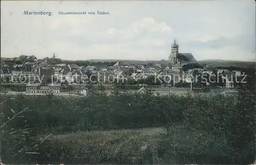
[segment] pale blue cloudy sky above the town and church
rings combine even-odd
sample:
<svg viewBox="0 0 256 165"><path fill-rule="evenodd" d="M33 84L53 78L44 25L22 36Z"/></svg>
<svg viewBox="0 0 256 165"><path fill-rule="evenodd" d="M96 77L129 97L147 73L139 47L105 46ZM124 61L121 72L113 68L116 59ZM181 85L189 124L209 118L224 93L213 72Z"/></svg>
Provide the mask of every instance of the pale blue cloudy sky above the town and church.
<svg viewBox="0 0 256 165"><path fill-rule="evenodd" d="M255 1L1 1L2 57L167 60L174 38L197 60L255 61Z"/></svg>

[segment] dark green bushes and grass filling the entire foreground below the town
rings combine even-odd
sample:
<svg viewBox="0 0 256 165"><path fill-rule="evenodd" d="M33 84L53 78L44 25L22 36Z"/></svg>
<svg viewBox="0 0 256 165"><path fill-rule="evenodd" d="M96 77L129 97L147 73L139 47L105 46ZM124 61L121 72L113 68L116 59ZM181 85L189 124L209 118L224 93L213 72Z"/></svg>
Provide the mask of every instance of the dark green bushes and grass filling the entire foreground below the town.
<svg viewBox="0 0 256 165"><path fill-rule="evenodd" d="M6 115L1 114L1 125L27 108L5 127L1 126L3 162L249 164L254 161L253 88L228 97L154 96L151 91L120 96L118 90L111 96L106 96L103 90L92 90L89 97L78 98L1 96L5 100L1 113Z"/></svg>

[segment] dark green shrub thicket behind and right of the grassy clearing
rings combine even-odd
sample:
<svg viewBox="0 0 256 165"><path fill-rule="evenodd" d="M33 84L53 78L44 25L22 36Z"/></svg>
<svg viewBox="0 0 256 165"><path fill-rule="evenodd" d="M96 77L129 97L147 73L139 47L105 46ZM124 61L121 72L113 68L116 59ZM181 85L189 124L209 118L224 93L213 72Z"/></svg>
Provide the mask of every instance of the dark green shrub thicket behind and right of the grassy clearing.
<svg viewBox="0 0 256 165"><path fill-rule="evenodd" d="M116 89L111 96L97 90L90 97L20 95L15 99L7 99L2 112L10 113L12 108L18 113L28 107L29 111L24 112L24 118L11 122L8 129L33 128L30 138L35 134L41 138L42 134L49 133L166 127L168 131L159 145L151 146L150 151L146 150L150 154L157 152L156 157L165 163L248 164L255 155L254 100L255 95L245 90L238 95L225 97L191 94L179 97L153 96L150 91L142 95L126 91L120 96ZM36 150L42 154L31 157L41 163L53 163L50 160L65 163L133 163L132 159L124 160L126 153L109 158L107 155L111 152L112 144L106 152L96 153L99 150L96 142L88 142L84 146L87 149L81 149L82 143L86 142L72 140L71 136L59 136L45 142ZM67 140L68 137L70 139ZM102 142L109 142L109 137L104 138ZM138 149L141 145L136 141L133 145ZM116 143L113 142L113 145ZM129 148L125 152L132 150ZM81 158L81 154L87 156ZM136 163L151 162L136 160Z"/></svg>

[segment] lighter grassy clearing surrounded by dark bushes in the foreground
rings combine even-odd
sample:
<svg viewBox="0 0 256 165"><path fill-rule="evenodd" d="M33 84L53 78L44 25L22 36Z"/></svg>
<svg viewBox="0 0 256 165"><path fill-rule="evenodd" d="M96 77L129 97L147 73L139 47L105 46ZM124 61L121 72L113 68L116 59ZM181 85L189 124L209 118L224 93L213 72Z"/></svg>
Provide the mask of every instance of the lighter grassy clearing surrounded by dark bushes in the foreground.
<svg viewBox="0 0 256 165"><path fill-rule="evenodd" d="M162 161L156 148L164 132L163 128L145 128L53 135L42 150L48 152L49 163L155 164Z"/></svg>

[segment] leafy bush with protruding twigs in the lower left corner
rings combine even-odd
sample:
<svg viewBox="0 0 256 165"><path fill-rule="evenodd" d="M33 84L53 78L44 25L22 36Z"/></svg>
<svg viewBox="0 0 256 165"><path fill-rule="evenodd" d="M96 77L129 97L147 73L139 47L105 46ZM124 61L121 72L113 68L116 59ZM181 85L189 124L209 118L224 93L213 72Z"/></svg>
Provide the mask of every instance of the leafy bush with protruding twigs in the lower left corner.
<svg viewBox="0 0 256 165"><path fill-rule="evenodd" d="M19 96L17 97L19 98ZM10 99L9 96L1 98L1 157L0 162L5 163L26 163L31 161L33 154L38 154L36 151L39 145L32 136L35 136L32 128L27 128L27 125L16 126L16 123L23 123L26 120L23 118L27 113L26 108L18 109L6 109L4 103ZM13 106L13 105L12 105ZM5 111L2 111L5 109ZM6 110L9 110L7 112ZM3 112L3 113L2 113ZM22 119L20 119L22 118ZM28 120L28 119L27 119ZM46 136L40 144L42 144L50 135ZM25 160L25 161L24 161Z"/></svg>

